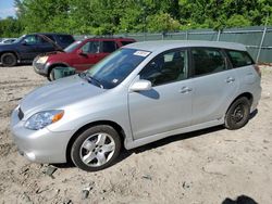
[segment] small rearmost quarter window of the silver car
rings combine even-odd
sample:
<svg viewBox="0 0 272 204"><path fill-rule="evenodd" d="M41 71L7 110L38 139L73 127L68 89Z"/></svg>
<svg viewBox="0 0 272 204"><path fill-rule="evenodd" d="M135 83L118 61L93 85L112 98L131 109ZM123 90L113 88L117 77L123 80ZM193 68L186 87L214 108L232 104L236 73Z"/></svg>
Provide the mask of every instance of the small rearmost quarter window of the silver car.
<svg viewBox="0 0 272 204"><path fill-rule="evenodd" d="M234 68L255 64L252 59L245 51L227 50L226 53Z"/></svg>

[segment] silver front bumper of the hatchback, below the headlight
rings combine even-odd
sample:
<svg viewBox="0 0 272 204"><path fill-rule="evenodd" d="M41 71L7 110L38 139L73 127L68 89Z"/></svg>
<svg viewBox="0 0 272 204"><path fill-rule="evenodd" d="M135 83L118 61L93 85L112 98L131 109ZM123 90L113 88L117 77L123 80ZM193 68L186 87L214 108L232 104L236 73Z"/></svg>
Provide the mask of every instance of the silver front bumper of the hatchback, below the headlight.
<svg viewBox="0 0 272 204"><path fill-rule="evenodd" d="M23 118L24 119L24 118ZM20 154L36 163L65 163L66 148L72 131L29 130L18 118L18 107L11 116L11 132Z"/></svg>

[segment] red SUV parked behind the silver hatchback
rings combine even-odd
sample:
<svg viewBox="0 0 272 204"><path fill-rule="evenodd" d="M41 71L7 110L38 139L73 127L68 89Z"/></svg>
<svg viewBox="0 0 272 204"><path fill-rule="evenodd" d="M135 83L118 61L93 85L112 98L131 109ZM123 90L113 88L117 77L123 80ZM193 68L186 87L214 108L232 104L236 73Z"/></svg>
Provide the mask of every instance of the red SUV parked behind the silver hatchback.
<svg viewBox="0 0 272 204"><path fill-rule="evenodd" d="M135 42L132 38L88 38L75 41L64 52L41 54L33 61L36 73L53 80L54 67L72 66L83 72L122 46Z"/></svg>

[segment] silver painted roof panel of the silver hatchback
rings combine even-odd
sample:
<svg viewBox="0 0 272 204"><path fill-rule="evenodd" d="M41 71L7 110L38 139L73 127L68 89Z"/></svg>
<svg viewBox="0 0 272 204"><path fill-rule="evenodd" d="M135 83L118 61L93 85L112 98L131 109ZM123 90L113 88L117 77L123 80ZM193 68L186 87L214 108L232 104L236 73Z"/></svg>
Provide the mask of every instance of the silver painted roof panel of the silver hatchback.
<svg viewBox="0 0 272 204"><path fill-rule="evenodd" d="M146 50L150 52L165 51L175 48L187 47L209 47L209 48L224 48L231 50L246 51L246 47L242 43L222 42L222 41L200 41L200 40L158 40L158 41L143 41L125 46L124 48L132 48L137 50Z"/></svg>

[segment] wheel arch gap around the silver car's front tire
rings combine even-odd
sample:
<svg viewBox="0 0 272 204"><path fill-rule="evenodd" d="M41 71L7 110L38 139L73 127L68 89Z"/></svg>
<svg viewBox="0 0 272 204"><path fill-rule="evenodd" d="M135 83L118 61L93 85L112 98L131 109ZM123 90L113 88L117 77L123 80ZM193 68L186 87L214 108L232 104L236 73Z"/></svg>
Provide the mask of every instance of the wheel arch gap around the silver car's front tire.
<svg viewBox="0 0 272 204"><path fill-rule="evenodd" d="M74 143L74 141L76 140L76 138L84 132L86 129L94 127L94 126L98 126L98 125L108 125L111 126L112 128L114 128L118 133L120 135L120 139L121 139L121 144L124 145L124 139L125 139L125 133L123 128L116 124L115 122L112 120L98 120L98 122L91 122L88 123L86 125L84 125L83 127L81 127L78 130L76 130L76 132L71 137L71 139L69 140L67 146L66 146L66 162L71 163L72 158L71 158L71 149L72 145Z"/></svg>

